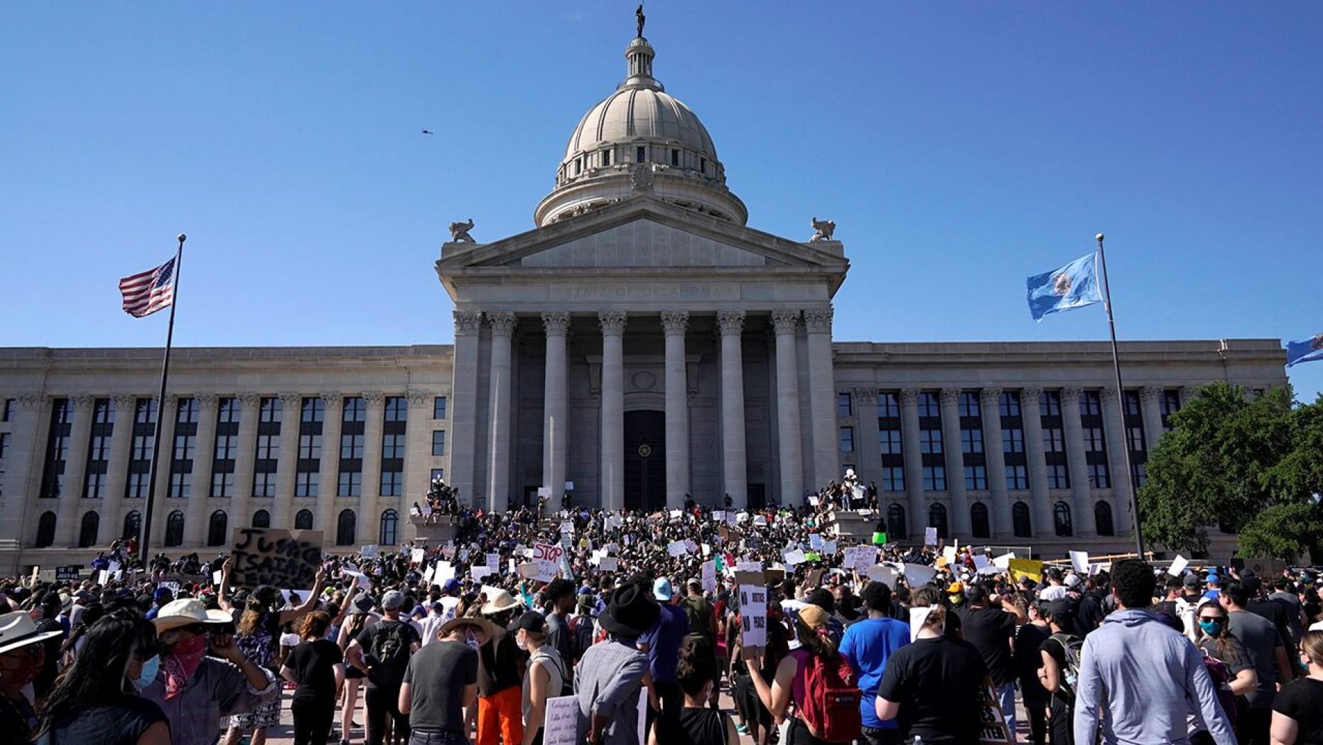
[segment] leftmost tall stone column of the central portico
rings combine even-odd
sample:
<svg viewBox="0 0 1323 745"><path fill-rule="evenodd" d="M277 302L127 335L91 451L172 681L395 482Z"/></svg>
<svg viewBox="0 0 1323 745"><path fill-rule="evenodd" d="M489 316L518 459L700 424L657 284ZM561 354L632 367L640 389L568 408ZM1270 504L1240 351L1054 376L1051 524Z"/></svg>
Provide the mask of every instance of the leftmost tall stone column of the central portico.
<svg viewBox="0 0 1323 745"><path fill-rule="evenodd" d="M460 500L472 503L479 487L474 483L474 471L478 462L478 335L483 314L454 311L454 318L455 361L450 390L450 434L446 443L450 447L450 471L446 472L446 483L459 490ZM366 494L366 484L364 487ZM376 528L372 532L376 535Z"/></svg>

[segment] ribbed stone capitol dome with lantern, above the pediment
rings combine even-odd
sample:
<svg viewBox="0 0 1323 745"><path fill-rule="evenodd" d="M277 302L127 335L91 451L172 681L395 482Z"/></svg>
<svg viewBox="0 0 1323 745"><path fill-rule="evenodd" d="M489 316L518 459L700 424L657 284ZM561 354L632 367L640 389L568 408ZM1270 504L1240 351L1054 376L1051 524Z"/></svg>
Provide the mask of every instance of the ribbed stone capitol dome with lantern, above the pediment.
<svg viewBox="0 0 1323 745"><path fill-rule="evenodd" d="M556 169L556 188L533 213L537 225L583 214L640 191L745 224L749 213L726 188L725 167L706 127L652 77L655 54L642 36L626 48L626 78L579 119Z"/></svg>

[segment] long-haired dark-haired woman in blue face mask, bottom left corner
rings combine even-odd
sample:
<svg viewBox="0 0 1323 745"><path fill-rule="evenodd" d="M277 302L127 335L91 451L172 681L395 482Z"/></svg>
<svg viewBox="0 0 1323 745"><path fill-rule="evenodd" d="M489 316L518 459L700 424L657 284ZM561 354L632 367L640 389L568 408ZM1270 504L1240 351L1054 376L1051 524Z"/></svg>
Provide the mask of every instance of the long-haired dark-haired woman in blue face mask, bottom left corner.
<svg viewBox="0 0 1323 745"><path fill-rule="evenodd" d="M98 619L46 699L37 745L169 745L165 715L138 696L160 670L151 621L120 610Z"/></svg>

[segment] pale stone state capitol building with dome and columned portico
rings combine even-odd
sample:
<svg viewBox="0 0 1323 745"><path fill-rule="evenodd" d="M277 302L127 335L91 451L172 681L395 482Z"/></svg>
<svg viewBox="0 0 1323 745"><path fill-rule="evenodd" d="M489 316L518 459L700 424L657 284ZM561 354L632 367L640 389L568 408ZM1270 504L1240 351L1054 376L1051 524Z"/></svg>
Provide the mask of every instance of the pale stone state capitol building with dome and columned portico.
<svg viewBox="0 0 1323 745"><path fill-rule="evenodd" d="M1123 343L1123 392L1106 343L833 340L833 225L747 226L654 54L628 44L532 230L456 225L442 246L454 345L176 349L161 406L159 348L0 349L0 572L136 533L159 416L152 549L171 556L239 525L394 545L435 476L497 511L566 484L578 505L656 509L802 504L847 468L902 543L934 525L1129 550L1130 482L1170 414L1209 381L1286 384L1277 339Z"/></svg>

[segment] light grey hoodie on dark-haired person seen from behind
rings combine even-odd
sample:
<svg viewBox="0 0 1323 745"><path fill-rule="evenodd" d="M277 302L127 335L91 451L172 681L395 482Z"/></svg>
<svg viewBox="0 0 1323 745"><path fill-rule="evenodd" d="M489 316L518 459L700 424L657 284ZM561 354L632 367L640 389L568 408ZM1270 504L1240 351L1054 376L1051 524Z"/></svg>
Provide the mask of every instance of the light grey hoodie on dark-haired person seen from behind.
<svg viewBox="0 0 1323 745"><path fill-rule="evenodd" d="M1076 742L1093 742L1101 719L1106 745L1184 744L1191 709L1218 745L1234 745L1203 655L1155 613L1118 610L1085 638Z"/></svg>

